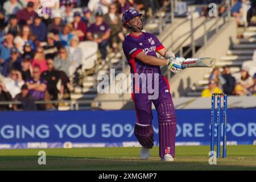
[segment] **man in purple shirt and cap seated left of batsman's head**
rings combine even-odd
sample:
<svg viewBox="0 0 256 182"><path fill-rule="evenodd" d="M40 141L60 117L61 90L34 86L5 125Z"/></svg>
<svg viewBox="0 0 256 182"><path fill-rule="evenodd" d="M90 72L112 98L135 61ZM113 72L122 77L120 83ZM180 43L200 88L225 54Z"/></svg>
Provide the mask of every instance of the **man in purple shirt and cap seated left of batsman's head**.
<svg viewBox="0 0 256 182"><path fill-rule="evenodd" d="M86 37L98 43L98 48L101 52L102 64L105 64L107 49L110 40L110 28L108 24L103 21L103 12L98 11L96 14L96 23L91 24L88 28Z"/></svg>

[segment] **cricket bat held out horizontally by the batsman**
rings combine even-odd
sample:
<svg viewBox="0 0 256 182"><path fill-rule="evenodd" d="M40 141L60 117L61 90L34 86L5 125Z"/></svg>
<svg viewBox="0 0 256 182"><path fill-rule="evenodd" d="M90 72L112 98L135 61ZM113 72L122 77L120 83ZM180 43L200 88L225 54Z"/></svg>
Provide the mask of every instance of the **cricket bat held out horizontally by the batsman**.
<svg viewBox="0 0 256 182"><path fill-rule="evenodd" d="M212 57L188 58L182 63L182 68L213 67L216 59Z"/></svg>

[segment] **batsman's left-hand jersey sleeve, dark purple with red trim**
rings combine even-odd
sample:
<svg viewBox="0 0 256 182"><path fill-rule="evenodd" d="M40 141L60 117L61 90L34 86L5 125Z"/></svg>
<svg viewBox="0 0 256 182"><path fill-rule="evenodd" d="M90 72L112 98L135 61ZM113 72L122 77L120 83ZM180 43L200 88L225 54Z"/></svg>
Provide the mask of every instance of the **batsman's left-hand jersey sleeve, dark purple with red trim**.
<svg viewBox="0 0 256 182"><path fill-rule="evenodd" d="M138 53L142 52L142 49L138 46L137 43L126 39L125 42L123 42L123 52L126 56L134 59Z"/></svg>

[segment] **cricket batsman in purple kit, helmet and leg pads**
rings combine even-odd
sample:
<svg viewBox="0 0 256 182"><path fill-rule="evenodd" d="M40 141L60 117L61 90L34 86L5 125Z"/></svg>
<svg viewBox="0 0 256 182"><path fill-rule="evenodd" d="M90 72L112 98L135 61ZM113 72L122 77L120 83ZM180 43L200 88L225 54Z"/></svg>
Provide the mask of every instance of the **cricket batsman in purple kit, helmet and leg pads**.
<svg viewBox="0 0 256 182"><path fill-rule="evenodd" d="M150 148L154 146L151 110L153 102L158 113L159 156L163 161L169 162L173 161L175 157L176 115L170 86L166 77L161 74L159 66L167 66L172 72L177 73L182 70L181 64L184 58L175 59L174 53L164 48L155 35L142 32L144 22L141 16L142 14L135 9L127 10L123 14L122 25L130 31L123 42L123 52L131 67L131 73L159 74L159 95L155 100L150 100L148 99L149 93L134 92L136 89L137 91L141 90L142 82L133 81L131 96L137 114L134 134L142 145L141 159L148 159ZM156 52L164 59L159 59ZM154 82L153 78L152 82Z"/></svg>

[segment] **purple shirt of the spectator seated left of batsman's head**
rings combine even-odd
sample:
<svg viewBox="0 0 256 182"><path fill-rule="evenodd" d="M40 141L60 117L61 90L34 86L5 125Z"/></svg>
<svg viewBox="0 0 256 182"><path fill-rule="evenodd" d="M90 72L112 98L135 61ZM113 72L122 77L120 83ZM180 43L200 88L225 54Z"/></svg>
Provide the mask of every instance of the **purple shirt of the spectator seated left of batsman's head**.
<svg viewBox="0 0 256 182"><path fill-rule="evenodd" d="M110 28L105 22L100 25L96 25L96 23L93 23L87 30L87 32L92 33L92 35L96 39L101 38L107 31L110 31Z"/></svg>

